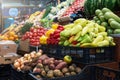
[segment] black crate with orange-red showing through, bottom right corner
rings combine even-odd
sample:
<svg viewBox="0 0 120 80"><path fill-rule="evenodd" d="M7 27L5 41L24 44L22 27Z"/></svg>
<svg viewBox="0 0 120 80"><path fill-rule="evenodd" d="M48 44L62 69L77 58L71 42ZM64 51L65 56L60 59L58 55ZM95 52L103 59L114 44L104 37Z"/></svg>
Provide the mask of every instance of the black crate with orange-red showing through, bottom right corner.
<svg viewBox="0 0 120 80"><path fill-rule="evenodd" d="M93 66L91 80L120 80L120 70Z"/></svg>

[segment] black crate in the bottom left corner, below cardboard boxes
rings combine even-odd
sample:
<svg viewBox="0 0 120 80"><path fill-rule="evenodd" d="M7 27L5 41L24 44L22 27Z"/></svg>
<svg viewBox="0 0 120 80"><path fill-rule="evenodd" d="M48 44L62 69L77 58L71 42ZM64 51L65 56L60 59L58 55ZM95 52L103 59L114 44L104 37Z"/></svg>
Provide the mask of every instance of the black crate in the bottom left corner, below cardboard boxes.
<svg viewBox="0 0 120 80"><path fill-rule="evenodd" d="M10 65L0 65L0 80L11 80Z"/></svg>

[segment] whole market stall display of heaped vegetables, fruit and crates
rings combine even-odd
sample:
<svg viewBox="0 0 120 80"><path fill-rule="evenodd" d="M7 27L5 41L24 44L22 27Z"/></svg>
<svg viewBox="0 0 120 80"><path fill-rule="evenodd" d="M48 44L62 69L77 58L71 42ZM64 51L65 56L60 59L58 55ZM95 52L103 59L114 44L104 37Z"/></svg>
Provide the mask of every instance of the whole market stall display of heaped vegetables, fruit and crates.
<svg viewBox="0 0 120 80"><path fill-rule="evenodd" d="M119 80L119 4L66 0L34 12L0 34L0 70L9 64L9 80Z"/></svg>

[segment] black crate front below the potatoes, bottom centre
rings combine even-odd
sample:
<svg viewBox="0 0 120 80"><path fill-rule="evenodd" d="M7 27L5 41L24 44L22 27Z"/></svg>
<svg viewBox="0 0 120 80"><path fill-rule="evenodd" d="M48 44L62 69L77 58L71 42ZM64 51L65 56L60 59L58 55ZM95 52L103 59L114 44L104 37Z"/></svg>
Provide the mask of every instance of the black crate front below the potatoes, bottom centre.
<svg viewBox="0 0 120 80"><path fill-rule="evenodd" d="M58 78L37 78L35 73L30 73L29 80L90 80L91 67L84 68L79 74L67 76L67 77L58 77Z"/></svg>

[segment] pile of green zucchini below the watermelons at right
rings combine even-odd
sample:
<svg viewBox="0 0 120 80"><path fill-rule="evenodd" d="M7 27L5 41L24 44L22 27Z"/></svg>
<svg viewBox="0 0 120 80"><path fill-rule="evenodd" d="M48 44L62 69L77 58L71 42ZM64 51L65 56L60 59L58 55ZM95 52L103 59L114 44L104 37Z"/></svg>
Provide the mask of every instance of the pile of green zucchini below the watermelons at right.
<svg viewBox="0 0 120 80"><path fill-rule="evenodd" d="M106 27L108 34L120 34L120 17L108 8L95 11L94 21Z"/></svg>

